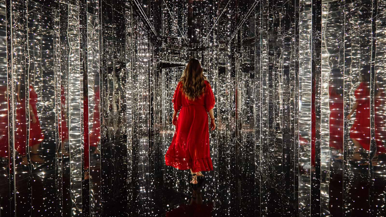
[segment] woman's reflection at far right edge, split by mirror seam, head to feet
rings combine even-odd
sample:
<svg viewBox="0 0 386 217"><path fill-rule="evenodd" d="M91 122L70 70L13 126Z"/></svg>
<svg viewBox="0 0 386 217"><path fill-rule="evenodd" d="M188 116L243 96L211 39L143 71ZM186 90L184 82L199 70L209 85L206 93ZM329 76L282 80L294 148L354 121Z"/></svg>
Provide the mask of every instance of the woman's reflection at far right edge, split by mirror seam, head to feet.
<svg viewBox="0 0 386 217"><path fill-rule="evenodd" d="M370 66L365 66L361 70L362 74L362 82L359 84L358 88L355 90L355 98L356 103L352 108L350 114L347 116L347 119L350 119L354 111L356 111L355 122L350 129L350 137L355 145L355 152L352 156L351 161L359 161L361 165L368 165L369 163L365 161L361 154L359 153L359 149L363 147L367 151L370 150L370 142L371 142L371 132L370 132L370 79L371 79L371 71L375 72L374 68L370 68ZM373 73L374 75L374 73ZM376 83L376 88L374 89L375 99L381 97L383 92L380 88L378 88L378 84ZM378 109L381 106L381 100L374 100L375 102L375 113L379 112ZM375 122L377 123L379 117L375 117ZM378 163L378 153L384 153L386 150L383 147L381 139L379 139L379 134L381 129L379 129L379 125L375 125L375 136L376 136L376 144L377 144L377 153L374 155L372 159L372 165L377 165Z"/></svg>

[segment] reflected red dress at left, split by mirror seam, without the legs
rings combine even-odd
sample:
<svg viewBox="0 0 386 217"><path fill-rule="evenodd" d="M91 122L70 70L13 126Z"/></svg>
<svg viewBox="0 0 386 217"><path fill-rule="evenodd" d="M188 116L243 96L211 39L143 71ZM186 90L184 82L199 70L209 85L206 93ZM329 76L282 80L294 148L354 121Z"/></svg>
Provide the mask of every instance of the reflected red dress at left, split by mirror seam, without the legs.
<svg viewBox="0 0 386 217"><path fill-rule="evenodd" d="M37 116L37 94L32 86L29 86L29 104L34 112L36 123L32 123L32 117L30 117L29 124L29 146L39 144L44 139L44 134L40 128L39 117ZM15 149L19 154L25 155L25 144L27 141L27 121L26 112L29 111L28 105L25 108L25 98L21 99L16 106L16 132L15 132Z"/></svg>

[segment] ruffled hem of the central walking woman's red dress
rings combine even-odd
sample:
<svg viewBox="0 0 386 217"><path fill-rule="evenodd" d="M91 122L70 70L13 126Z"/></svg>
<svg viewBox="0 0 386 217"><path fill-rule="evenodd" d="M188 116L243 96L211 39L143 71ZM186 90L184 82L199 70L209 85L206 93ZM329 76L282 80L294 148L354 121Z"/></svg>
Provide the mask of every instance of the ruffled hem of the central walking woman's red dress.
<svg viewBox="0 0 386 217"><path fill-rule="evenodd" d="M166 166L173 166L174 168L177 168L178 170L192 169L193 172L213 170L213 164L212 164L211 158L196 159L193 162L193 165L191 165L190 159L175 158L173 156L165 155L165 163L166 163Z"/></svg>

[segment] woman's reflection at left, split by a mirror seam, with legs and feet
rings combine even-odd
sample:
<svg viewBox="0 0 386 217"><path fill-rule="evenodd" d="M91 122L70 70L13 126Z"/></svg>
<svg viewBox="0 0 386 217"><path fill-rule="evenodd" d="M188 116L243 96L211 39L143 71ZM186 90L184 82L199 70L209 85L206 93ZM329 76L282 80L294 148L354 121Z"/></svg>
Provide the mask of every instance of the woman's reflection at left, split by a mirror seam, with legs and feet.
<svg viewBox="0 0 386 217"><path fill-rule="evenodd" d="M27 165L27 158L25 157L25 144L27 141L27 123L26 123L26 102L25 95L23 91L19 92L20 98L18 99L16 106L16 135L15 135L15 148L17 152L22 156L22 164ZM30 118L29 124L29 147L31 147L30 151L30 159L34 163L44 163L44 159L39 156L39 145L44 139L44 134L42 134L42 130L40 128L39 117L37 116L37 94L32 85L29 86L29 104L28 104L28 112Z"/></svg>

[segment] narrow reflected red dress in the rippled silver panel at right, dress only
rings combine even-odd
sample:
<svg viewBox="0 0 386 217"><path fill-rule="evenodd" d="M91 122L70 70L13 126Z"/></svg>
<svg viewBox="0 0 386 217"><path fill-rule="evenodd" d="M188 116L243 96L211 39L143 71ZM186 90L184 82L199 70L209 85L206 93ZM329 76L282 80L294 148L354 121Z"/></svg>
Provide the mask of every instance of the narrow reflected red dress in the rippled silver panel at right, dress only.
<svg viewBox="0 0 386 217"><path fill-rule="evenodd" d="M328 88L330 107L330 147L343 150L343 96L334 91L334 87Z"/></svg>

